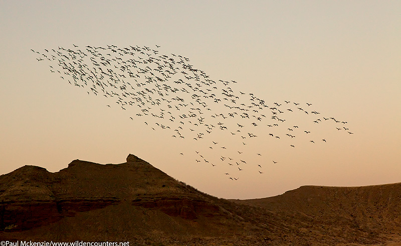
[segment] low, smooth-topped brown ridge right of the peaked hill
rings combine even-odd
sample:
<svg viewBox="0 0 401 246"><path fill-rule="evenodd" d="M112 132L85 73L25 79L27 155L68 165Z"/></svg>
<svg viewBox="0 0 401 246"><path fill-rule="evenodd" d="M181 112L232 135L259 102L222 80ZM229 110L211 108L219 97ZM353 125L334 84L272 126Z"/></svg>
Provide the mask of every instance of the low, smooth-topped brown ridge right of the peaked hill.
<svg viewBox="0 0 401 246"><path fill-rule="evenodd" d="M241 201L318 221L341 233L401 235L401 183L361 187L301 186L282 195ZM366 242L365 242L366 243Z"/></svg>

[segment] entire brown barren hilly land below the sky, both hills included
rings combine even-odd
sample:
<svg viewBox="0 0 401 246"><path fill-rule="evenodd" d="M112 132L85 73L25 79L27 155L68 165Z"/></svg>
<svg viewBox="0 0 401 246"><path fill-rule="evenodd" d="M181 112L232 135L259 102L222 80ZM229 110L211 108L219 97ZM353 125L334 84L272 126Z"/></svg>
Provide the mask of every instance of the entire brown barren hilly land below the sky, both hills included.
<svg viewBox="0 0 401 246"><path fill-rule="evenodd" d="M302 186L269 198L213 197L135 155L0 176L0 238L133 245L366 245L401 240L401 183Z"/></svg>

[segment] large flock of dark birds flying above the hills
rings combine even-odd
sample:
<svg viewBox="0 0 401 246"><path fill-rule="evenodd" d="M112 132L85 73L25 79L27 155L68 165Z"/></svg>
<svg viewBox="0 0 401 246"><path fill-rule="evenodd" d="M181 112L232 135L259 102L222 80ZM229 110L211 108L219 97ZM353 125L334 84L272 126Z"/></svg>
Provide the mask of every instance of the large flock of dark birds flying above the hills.
<svg viewBox="0 0 401 246"><path fill-rule="evenodd" d="M320 112L309 109L311 103L284 101L269 106L253 93L236 90L237 81L214 80L190 65L188 58L159 54L157 48L73 45L72 49L32 51L38 61L50 61L50 71L71 85L85 88L88 94L114 98L122 110L133 110L131 120L143 119L152 130L169 131L173 139L192 141L194 162L225 165L231 173L225 175L231 180L238 180L238 172L252 165L245 157L254 160L265 155L255 153L253 139L286 138L289 148L295 148L296 134L311 133L287 122L285 115L302 113L314 125L330 121L338 132L353 134L346 121L319 117ZM283 127L285 135L283 130L276 131ZM311 144L315 141L327 142L325 138L309 140ZM254 165L260 174L266 159Z"/></svg>

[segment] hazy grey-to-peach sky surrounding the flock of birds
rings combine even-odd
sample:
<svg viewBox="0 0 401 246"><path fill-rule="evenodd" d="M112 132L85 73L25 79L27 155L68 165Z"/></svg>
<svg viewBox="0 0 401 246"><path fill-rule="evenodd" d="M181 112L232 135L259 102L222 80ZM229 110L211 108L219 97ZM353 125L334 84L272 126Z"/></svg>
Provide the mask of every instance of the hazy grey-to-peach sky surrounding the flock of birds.
<svg viewBox="0 0 401 246"><path fill-rule="evenodd" d="M401 182L400 10L399 1L0 1L0 174L24 165L57 172L75 159L118 164L134 154L221 198ZM274 132L280 139L269 136L269 109L264 126L244 121L258 133L247 145L219 130L199 141L153 130L154 119L146 125L134 109L70 85L31 51L74 45L146 46L186 57L215 81L236 81L236 93L280 104L288 128L303 126L293 129L296 146L284 122ZM222 104L210 107L227 113ZM323 117L347 123L313 123ZM197 162L195 151L216 166ZM247 163L228 165L237 151Z"/></svg>

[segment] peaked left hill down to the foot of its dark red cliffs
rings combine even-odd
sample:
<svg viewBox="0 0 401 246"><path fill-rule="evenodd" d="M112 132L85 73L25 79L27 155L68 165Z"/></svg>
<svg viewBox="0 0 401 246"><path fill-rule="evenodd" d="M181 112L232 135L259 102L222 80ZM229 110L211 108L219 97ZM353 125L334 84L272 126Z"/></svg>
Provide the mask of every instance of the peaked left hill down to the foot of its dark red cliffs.
<svg viewBox="0 0 401 246"><path fill-rule="evenodd" d="M223 216L209 197L131 154L117 165L75 160L56 173L24 166L0 176L0 230L23 231L122 201L187 220Z"/></svg>

